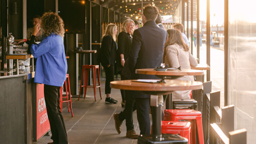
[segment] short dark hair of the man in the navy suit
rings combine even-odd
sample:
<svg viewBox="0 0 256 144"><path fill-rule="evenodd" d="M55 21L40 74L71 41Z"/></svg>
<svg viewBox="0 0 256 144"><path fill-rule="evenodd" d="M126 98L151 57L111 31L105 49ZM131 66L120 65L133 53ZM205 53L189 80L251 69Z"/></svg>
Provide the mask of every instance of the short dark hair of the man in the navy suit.
<svg viewBox="0 0 256 144"><path fill-rule="evenodd" d="M147 5L143 10L143 15L146 17L147 20L155 21L158 14L159 14L158 8L155 6Z"/></svg>

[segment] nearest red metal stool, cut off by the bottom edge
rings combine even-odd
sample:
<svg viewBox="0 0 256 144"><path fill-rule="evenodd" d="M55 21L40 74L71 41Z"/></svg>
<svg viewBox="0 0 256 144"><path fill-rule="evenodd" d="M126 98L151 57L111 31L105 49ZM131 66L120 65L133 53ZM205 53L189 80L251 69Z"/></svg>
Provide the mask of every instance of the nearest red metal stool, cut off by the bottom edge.
<svg viewBox="0 0 256 144"><path fill-rule="evenodd" d="M162 121L162 131L165 134L179 134L188 139L188 144L191 144L191 124L186 121ZM151 125L152 134L152 125Z"/></svg>

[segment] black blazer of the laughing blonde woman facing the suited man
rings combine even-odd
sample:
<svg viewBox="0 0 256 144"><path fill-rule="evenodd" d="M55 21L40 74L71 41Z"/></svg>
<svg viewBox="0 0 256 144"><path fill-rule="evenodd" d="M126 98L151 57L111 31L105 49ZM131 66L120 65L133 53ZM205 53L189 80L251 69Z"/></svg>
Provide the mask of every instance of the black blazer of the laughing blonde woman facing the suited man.
<svg viewBox="0 0 256 144"><path fill-rule="evenodd" d="M117 38L118 43L118 49L116 53L116 72L121 73L123 70L123 66L121 65L121 57L120 55L124 55L124 59L126 59L129 56L131 44L132 44L132 37L130 37L129 33L126 32L120 32Z"/></svg>

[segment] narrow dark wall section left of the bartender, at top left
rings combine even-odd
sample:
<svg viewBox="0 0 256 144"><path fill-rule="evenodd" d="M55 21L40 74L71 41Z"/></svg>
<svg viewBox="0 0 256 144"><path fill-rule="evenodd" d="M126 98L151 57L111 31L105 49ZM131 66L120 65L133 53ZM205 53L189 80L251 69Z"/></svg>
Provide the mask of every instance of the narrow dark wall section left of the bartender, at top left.
<svg viewBox="0 0 256 144"><path fill-rule="evenodd" d="M16 2L17 8L15 10L14 3ZM23 38L23 1L22 0L9 0L8 9L8 31L12 33L15 39ZM16 14L14 13L17 12Z"/></svg>

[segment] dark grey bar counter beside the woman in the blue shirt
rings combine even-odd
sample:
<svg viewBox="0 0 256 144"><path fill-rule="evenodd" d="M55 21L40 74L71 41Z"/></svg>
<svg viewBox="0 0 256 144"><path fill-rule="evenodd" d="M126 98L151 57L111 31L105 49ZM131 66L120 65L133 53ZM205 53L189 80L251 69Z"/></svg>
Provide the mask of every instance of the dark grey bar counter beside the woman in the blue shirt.
<svg viewBox="0 0 256 144"><path fill-rule="evenodd" d="M17 75L16 70L14 72L1 71L0 143L32 144L38 137L40 138L49 131L47 127L44 130L47 131L38 136L37 112L40 107L42 108L41 111L44 110L46 113L46 108L44 108L43 101L40 104L37 103L38 95L43 95L43 86L33 82L34 75L35 72ZM38 87L41 89L38 89ZM47 123L47 121L48 118L43 119L44 123Z"/></svg>

